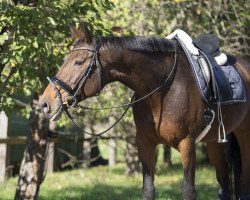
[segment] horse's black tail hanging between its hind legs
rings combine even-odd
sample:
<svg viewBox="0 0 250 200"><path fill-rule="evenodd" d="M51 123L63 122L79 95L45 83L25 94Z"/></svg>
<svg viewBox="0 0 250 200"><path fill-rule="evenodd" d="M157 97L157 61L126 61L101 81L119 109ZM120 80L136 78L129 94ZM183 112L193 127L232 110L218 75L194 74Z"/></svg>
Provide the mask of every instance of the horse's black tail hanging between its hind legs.
<svg viewBox="0 0 250 200"><path fill-rule="evenodd" d="M231 199L239 199L239 177L241 174L240 146L234 133L228 136L228 148L226 150L229 167L229 184Z"/></svg>

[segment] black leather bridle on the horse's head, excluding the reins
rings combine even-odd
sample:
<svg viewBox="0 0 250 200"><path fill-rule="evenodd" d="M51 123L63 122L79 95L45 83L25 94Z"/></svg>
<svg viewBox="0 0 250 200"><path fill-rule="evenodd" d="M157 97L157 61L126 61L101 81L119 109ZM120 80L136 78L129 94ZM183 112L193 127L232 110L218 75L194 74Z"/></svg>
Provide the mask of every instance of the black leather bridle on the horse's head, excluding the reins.
<svg viewBox="0 0 250 200"><path fill-rule="evenodd" d="M80 48L75 48L75 49L71 50L71 51L86 50L86 51L90 51L93 53L92 59L88 65L87 69L85 70L85 72L83 73L81 78L77 81L77 83L75 84L73 89L67 83L60 80L56 76L53 76L51 78L47 77L48 81L53 85L54 90L57 93L57 97L60 99L62 104L63 104L62 95L61 95L60 91L57 89L56 85L60 86L64 91L66 91L69 94L70 99L72 100L73 103L71 105L69 105L68 102L66 102L67 105L69 107L75 107L76 104L78 103L77 97L79 95L82 96L82 93L80 92L81 88L86 84L86 81L88 80L88 78L91 77L91 75L93 74L93 72L95 70L97 70L99 73L99 92L101 91L101 88L102 88L101 64L99 62L99 50L100 50L100 48L101 48L101 42L100 42L100 40L97 40L94 49L80 47Z"/></svg>

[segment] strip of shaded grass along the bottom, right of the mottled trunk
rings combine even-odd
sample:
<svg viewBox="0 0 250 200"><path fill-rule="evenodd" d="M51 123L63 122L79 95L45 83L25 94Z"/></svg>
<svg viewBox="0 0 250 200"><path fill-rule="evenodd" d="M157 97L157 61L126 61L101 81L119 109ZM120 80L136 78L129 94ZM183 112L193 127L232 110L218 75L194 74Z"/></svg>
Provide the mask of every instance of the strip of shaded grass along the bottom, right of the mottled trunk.
<svg viewBox="0 0 250 200"><path fill-rule="evenodd" d="M159 185L156 188L157 200L181 200L182 188L181 181L174 182L169 185ZM197 186L197 199L210 200L216 199L216 187L207 184ZM109 186L103 184L95 184L92 187L67 187L61 190L48 190L46 194L39 196L41 200L139 200L141 199L141 186Z"/></svg>

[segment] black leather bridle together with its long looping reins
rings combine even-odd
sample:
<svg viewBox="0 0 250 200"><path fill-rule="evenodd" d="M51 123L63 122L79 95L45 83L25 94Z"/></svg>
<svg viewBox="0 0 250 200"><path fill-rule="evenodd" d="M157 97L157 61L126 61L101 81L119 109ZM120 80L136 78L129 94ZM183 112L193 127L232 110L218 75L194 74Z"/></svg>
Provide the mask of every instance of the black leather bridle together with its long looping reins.
<svg viewBox="0 0 250 200"><path fill-rule="evenodd" d="M62 111L64 111L66 113L66 115L68 116L68 118L72 121L72 123L80 130L83 131L84 133L91 135L91 136L101 136L102 134L108 132L110 129L112 129L116 124L118 124L118 122L120 122L120 120L124 117L124 115L127 113L128 109L130 108L131 105L136 104L144 99L146 99L147 97L151 96L153 93L155 93L156 91L160 90L172 77L176 67L177 67L177 52L176 49L174 50L175 53L175 59L174 59L174 64L171 68L170 73L168 74L168 76L165 78L164 82L158 86L157 88L155 88L153 91L151 91L150 93L146 94L145 96L136 99L136 93L133 94L131 101L129 103L126 104L122 104L119 106L113 106L113 107L103 107L103 108L90 108L90 107L86 107L84 105L79 105L79 101L77 99L78 95L82 95L80 94L81 88L84 87L84 85L86 84L86 81L88 80L88 78L91 77L91 75L95 72L95 70L98 70L99 72L99 93L102 89L102 80L101 80L101 63L99 61L99 50L101 48L101 41L97 40L96 41L96 45L94 49L90 49L90 48L75 48L72 49L71 51L78 51L78 50L86 50L86 51L90 51L93 53L92 59L90 61L90 64L88 65L87 69L85 70L85 72L83 73L83 75L81 76L81 78L77 81L77 83L75 84L74 88L72 89L67 83L65 83L64 81L60 80L59 78L57 78L56 76L54 77L47 77L48 81L50 82L50 84L53 86L54 91L57 94L57 98L60 99L60 104L61 104L61 108ZM73 103L71 105L68 104L68 102L63 102L62 100L62 95L60 93L60 91L58 90L58 88L56 86L60 86L64 91L66 91L71 100L73 101ZM99 94L98 93L98 94ZM136 100L135 100L136 99ZM100 132L100 133L89 133L86 132L84 130L82 130L73 120L73 117L71 116L71 114L69 113L67 108L70 107L74 107L74 108L83 108L83 109L88 109L88 110L107 110L107 109L115 109L115 108L121 108L121 107L125 107L126 109L124 111L124 113L121 115L121 117L113 124L111 125L108 129Z"/></svg>

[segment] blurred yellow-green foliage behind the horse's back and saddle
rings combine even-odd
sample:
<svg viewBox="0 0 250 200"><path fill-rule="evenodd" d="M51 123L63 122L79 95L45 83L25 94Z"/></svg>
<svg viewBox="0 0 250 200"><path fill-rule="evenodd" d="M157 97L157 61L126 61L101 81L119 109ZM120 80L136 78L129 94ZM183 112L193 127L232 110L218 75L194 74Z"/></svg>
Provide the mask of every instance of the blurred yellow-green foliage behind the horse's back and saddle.
<svg viewBox="0 0 250 200"><path fill-rule="evenodd" d="M175 29L191 36L212 32L229 53L250 58L250 2L246 0L112 0L106 23L125 34L165 37ZM111 25L113 26L113 24Z"/></svg>

